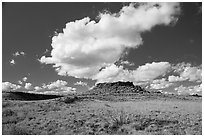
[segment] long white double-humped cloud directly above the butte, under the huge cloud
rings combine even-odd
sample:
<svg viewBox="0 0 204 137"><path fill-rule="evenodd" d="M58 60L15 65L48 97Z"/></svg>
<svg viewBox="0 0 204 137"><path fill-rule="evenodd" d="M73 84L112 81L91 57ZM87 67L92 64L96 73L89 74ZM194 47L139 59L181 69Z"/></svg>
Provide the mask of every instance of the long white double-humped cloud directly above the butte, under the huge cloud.
<svg viewBox="0 0 204 137"><path fill-rule="evenodd" d="M102 69L94 79L97 82L132 81L134 84L151 81L171 68L168 62L152 62L139 66L135 70L125 70L122 66L110 65Z"/></svg>

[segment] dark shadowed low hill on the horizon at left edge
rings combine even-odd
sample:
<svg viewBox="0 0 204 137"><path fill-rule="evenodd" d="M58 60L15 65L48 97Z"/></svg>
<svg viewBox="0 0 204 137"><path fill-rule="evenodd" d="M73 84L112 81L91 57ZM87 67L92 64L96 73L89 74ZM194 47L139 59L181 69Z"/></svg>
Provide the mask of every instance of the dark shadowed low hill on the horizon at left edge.
<svg viewBox="0 0 204 137"><path fill-rule="evenodd" d="M2 98L8 100L46 100L46 99L54 99L62 97L60 95L45 95L45 94L34 94L34 93L26 93L26 92L3 92Z"/></svg>

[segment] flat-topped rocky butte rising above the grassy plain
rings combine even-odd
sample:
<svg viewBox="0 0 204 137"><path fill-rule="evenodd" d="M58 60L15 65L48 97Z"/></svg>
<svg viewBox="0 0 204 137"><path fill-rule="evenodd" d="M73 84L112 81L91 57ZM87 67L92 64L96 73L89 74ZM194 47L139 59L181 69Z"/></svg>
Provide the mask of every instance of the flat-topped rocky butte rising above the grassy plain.
<svg viewBox="0 0 204 137"><path fill-rule="evenodd" d="M124 93L149 93L140 86L135 86L132 82L98 83L90 94L124 94Z"/></svg>

